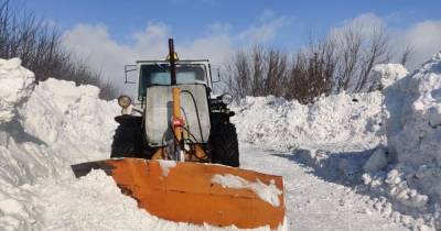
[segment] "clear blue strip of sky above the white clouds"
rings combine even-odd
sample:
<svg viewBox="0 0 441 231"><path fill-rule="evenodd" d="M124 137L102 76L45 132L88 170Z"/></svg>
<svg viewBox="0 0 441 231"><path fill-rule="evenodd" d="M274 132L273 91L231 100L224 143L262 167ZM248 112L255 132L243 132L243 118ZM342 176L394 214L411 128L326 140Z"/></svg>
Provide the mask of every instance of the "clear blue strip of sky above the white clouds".
<svg viewBox="0 0 441 231"><path fill-rule="evenodd" d="M190 42L208 33L213 24L239 33L265 16L287 21L270 41L282 47L301 45L311 33L324 33L345 20L374 13L390 25L406 28L423 20L440 20L441 1L428 0L18 0L20 6L55 22L62 30L78 23L105 24L119 43L132 43L131 34L148 22L168 25L172 35ZM424 2L423 4L421 2Z"/></svg>

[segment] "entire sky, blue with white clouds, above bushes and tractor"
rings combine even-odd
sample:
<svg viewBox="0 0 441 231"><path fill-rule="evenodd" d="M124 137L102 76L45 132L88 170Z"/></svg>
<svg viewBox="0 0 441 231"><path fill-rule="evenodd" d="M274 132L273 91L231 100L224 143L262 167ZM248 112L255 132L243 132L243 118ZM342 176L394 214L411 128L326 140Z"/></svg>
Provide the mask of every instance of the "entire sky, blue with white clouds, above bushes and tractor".
<svg viewBox="0 0 441 231"><path fill-rule="evenodd" d="M11 0L62 32L63 45L114 82L125 64L165 57L175 38L181 58L222 64L251 44L294 52L356 24L384 28L398 57L415 51L409 68L441 51L441 0ZM422 3L423 2L423 3Z"/></svg>

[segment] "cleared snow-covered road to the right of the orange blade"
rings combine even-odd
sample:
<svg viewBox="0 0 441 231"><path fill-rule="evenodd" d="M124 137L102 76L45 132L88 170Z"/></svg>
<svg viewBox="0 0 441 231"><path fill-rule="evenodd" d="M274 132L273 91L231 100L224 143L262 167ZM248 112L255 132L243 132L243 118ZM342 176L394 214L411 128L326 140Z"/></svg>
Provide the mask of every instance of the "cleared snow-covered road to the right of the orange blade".
<svg viewBox="0 0 441 231"><path fill-rule="evenodd" d="M374 209L370 197L325 182L313 169L289 158L291 154L244 143L240 154L244 168L283 176L288 230L408 230L384 218Z"/></svg>

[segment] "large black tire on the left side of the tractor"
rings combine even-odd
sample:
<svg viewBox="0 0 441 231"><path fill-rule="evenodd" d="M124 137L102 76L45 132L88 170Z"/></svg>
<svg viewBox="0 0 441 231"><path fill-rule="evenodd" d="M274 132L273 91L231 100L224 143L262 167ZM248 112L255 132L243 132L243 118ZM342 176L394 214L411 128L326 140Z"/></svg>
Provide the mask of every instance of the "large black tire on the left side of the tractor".
<svg viewBox="0 0 441 231"><path fill-rule="evenodd" d="M129 114L116 117L119 127L115 131L110 157L146 158L143 151L142 118Z"/></svg>

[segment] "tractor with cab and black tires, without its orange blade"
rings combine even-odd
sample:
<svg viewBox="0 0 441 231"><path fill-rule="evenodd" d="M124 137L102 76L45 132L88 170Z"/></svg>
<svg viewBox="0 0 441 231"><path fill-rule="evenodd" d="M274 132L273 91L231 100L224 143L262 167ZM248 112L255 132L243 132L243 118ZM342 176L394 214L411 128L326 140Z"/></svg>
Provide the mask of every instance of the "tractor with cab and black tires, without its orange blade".
<svg viewBox="0 0 441 231"><path fill-rule="evenodd" d="M171 42L172 43L172 42ZM137 103L118 98L121 116L110 157L174 160L239 166L235 114L229 94L213 94L206 59L180 61L172 51L165 61L138 61L126 66L138 76ZM135 67L135 68L133 68ZM179 130L179 131L176 131Z"/></svg>

